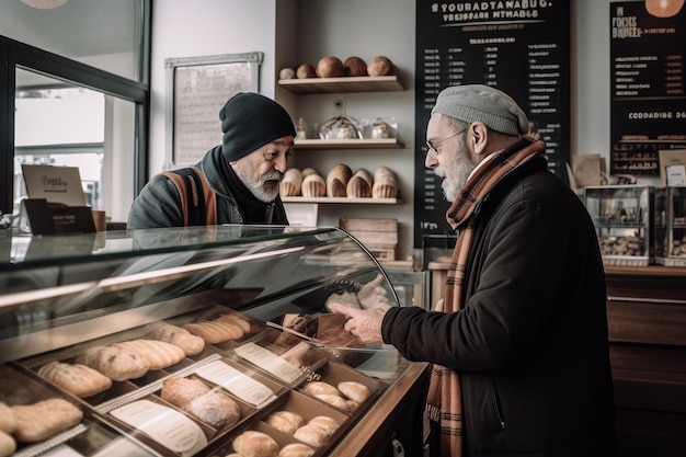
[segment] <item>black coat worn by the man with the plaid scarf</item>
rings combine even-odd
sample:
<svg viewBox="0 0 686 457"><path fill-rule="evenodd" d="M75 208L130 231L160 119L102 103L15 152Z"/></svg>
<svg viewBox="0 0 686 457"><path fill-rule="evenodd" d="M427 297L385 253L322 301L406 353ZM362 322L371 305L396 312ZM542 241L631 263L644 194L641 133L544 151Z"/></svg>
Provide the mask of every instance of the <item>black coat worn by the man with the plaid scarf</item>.
<svg viewBox="0 0 686 457"><path fill-rule="evenodd" d="M393 308L384 341L458 370L468 456L614 456L603 262L581 199L522 167L479 208L456 313Z"/></svg>

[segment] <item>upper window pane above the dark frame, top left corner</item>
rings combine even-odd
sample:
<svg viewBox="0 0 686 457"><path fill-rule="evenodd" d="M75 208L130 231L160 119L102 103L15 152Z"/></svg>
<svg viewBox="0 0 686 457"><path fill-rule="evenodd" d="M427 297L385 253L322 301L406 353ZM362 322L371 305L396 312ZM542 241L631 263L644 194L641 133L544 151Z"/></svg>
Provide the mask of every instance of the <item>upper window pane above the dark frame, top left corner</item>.
<svg viewBox="0 0 686 457"><path fill-rule="evenodd" d="M30 2L2 3L0 34L139 80L140 0L68 0L54 9L26 3Z"/></svg>

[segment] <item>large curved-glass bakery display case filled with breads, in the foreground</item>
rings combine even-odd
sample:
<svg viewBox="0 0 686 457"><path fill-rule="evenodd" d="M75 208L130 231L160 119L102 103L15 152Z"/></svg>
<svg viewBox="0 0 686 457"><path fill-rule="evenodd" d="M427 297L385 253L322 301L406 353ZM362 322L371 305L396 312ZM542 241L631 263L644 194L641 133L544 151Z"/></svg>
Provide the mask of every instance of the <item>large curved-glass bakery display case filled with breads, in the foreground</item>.
<svg viewBox="0 0 686 457"><path fill-rule="evenodd" d="M400 306L340 229L2 233L0 255L0 456L422 452L426 364L328 309Z"/></svg>

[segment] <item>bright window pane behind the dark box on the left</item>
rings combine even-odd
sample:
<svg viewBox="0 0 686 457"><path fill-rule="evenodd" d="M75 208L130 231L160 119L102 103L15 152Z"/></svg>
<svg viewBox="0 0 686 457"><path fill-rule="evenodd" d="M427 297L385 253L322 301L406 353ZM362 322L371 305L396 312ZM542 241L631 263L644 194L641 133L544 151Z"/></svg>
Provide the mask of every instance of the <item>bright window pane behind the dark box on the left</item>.
<svg viewBox="0 0 686 457"><path fill-rule="evenodd" d="M125 221L134 201L135 104L16 71L14 212L26 196L22 164L78 167L85 202Z"/></svg>

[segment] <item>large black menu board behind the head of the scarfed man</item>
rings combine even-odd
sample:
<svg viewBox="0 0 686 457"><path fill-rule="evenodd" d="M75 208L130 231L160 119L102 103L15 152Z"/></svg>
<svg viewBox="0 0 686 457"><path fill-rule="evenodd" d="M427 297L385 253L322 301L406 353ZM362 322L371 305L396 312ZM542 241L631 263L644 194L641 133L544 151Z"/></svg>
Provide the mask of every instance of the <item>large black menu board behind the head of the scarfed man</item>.
<svg viewBox="0 0 686 457"><path fill-rule="evenodd" d="M441 181L421 152L438 93L488 84L526 111L546 141L549 169L567 180L570 138L570 2L548 0L416 2L414 247L454 238Z"/></svg>

